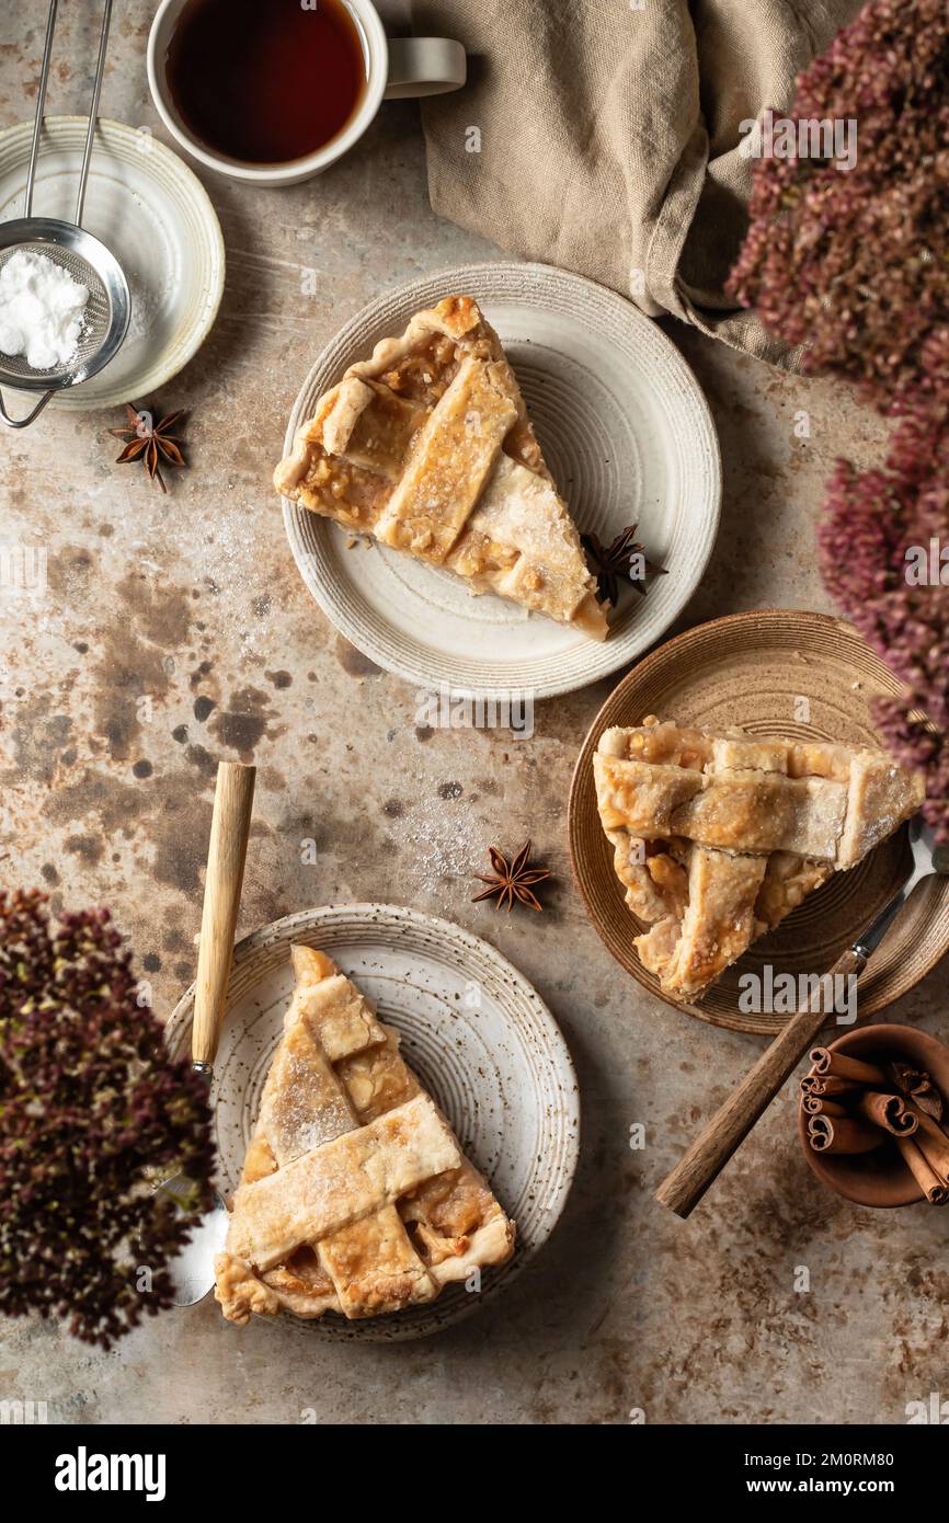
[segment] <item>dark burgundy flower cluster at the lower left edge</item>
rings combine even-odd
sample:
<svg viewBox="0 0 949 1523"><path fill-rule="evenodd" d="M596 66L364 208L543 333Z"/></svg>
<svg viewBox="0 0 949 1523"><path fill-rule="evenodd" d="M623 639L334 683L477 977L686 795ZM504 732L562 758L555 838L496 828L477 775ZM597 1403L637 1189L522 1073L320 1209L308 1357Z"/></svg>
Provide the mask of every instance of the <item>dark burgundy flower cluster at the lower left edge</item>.
<svg viewBox="0 0 949 1523"><path fill-rule="evenodd" d="M187 1226L152 1167L210 1203L204 1086L139 1007L108 911L53 926L43 894L0 892L0 1311L108 1348L168 1307Z"/></svg>

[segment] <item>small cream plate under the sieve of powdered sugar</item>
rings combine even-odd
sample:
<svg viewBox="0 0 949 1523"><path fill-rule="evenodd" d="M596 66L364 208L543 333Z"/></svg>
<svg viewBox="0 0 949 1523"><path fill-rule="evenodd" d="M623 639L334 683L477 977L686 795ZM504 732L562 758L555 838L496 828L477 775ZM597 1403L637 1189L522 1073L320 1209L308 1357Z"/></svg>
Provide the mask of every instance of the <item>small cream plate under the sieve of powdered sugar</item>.
<svg viewBox="0 0 949 1523"><path fill-rule="evenodd" d="M32 122L0 133L0 221L23 216ZM72 222L87 120L43 123L34 190L37 216ZM99 117L82 225L111 248L131 291L131 320L116 358L50 407L85 411L145 402L178 375L207 338L224 289L224 239L207 192L151 133ZM29 402L26 393L18 393ZM35 398L32 399L35 401Z"/></svg>

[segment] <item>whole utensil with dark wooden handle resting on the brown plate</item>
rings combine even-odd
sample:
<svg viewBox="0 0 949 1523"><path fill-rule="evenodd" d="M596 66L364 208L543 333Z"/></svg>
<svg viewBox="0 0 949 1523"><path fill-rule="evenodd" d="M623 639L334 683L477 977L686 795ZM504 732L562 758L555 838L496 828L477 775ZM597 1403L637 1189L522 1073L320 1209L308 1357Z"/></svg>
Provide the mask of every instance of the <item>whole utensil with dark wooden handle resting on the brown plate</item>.
<svg viewBox="0 0 949 1523"><path fill-rule="evenodd" d="M734 1150L745 1141L756 1121L768 1109L784 1084L784 1080L791 1077L818 1031L832 1014L832 1008L827 1008L826 1001L827 993L839 987L836 979L839 976L859 978L867 967L870 955L880 944L893 920L922 879L932 874L949 874L949 847L935 845L932 832L922 824L919 815L909 825L909 845L912 848L912 871L899 894L877 915L864 935L836 959L830 973L821 979L815 998L806 1001L797 1014L791 1017L780 1036L762 1052L751 1072L711 1118L685 1156L666 1176L655 1193L660 1205L669 1206L679 1217L687 1217L692 1212L708 1186L714 1183Z"/></svg>

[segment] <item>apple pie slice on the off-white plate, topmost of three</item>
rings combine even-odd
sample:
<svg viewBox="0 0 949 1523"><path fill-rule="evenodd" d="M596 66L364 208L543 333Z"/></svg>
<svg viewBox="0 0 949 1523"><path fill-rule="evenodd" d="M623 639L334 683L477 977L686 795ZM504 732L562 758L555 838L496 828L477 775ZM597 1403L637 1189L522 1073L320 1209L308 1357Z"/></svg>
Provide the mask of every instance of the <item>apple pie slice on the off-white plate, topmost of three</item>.
<svg viewBox="0 0 949 1523"><path fill-rule="evenodd" d="M349 367L274 472L283 496L596 640L606 615L498 335L469 295Z"/></svg>

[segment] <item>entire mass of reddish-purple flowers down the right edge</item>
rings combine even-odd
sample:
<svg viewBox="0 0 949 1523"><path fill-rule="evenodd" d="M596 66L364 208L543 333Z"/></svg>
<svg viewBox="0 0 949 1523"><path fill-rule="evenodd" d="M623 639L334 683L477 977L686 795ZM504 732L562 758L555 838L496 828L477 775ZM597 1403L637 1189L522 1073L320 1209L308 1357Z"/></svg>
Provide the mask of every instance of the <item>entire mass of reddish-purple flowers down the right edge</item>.
<svg viewBox="0 0 949 1523"><path fill-rule="evenodd" d="M879 704L894 752L926 772L949 839L949 592L908 553L949 547L949 6L873 0L801 75L792 120L855 120L856 164L762 158L733 292L858 382L900 423L882 471L841 461L821 560L844 612L906 684ZM923 717L928 720L925 722Z"/></svg>

